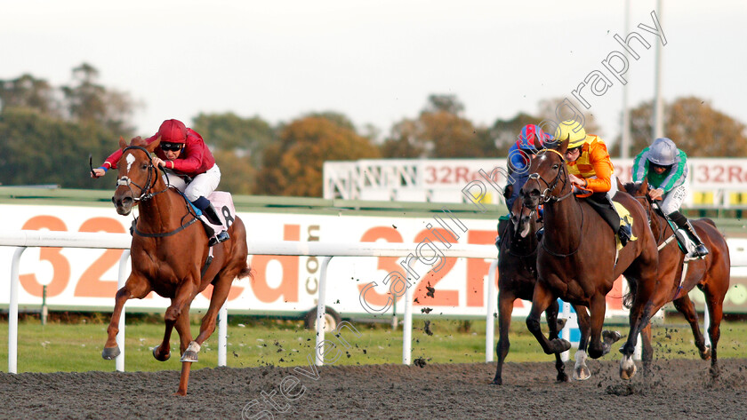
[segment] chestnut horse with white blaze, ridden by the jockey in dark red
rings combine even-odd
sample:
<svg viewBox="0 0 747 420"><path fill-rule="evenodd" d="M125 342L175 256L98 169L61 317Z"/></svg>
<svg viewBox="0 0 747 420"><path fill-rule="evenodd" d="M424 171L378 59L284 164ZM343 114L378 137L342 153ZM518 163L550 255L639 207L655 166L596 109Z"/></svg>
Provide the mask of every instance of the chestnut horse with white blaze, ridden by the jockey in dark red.
<svg viewBox="0 0 747 420"><path fill-rule="evenodd" d="M158 361L171 356L169 339L175 328L180 337L181 377L177 395L187 394L189 368L197 361L200 345L213 334L221 306L226 302L231 282L251 275L246 263L246 229L241 218L229 227L230 239L208 247L205 229L198 221L187 199L166 185L153 165L151 153L160 139L150 144L135 138L128 146L119 139L123 154L117 163L118 178L112 202L116 212L126 216L134 205L140 207L140 217L133 228L131 247L132 273L124 287L116 292L114 312L108 325L107 342L101 356L111 360L119 355L116 334L124 303L128 299L146 297L155 291L171 299L165 312L163 342L153 349ZM196 223L197 222L197 223ZM193 341L189 331L189 306L198 293L213 284L210 306Z"/></svg>

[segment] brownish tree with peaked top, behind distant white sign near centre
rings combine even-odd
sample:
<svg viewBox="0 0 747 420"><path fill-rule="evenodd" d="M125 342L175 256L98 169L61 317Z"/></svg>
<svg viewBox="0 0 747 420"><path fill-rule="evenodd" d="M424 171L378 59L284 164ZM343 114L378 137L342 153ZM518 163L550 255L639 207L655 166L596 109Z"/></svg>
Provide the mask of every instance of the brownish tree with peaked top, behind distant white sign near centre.
<svg viewBox="0 0 747 420"><path fill-rule="evenodd" d="M416 120L396 123L384 140L386 157L476 157L481 155L477 129L460 116L464 107L454 95L430 95Z"/></svg>

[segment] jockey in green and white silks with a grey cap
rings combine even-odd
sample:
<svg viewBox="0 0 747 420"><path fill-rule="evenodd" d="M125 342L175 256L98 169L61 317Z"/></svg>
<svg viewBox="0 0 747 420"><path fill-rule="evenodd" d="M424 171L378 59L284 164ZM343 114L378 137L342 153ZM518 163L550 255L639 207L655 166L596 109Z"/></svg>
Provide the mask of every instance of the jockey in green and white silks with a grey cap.
<svg viewBox="0 0 747 420"><path fill-rule="evenodd" d="M689 194L687 183L687 155L671 139L655 139L651 147L643 149L633 162L633 182L647 179L652 200L661 199L659 208L695 242L698 257L708 255L708 250L689 220L679 212L679 206Z"/></svg>

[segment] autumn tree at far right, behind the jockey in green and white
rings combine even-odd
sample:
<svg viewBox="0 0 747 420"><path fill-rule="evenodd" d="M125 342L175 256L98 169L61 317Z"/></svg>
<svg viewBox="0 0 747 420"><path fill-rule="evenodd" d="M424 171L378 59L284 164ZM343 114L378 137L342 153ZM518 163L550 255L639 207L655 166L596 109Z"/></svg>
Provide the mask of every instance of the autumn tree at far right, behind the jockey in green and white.
<svg viewBox="0 0 747 420"><path fill-rule="evenodd" d="M654 142L653 101L631 109L631 155ZM664 137L672 139L688 156L747 155L745 125L711 107L705 99L685 97L664 104ZM619 142L618 142L619 143ZM615 144L612 155L619 155Z"/></svg>

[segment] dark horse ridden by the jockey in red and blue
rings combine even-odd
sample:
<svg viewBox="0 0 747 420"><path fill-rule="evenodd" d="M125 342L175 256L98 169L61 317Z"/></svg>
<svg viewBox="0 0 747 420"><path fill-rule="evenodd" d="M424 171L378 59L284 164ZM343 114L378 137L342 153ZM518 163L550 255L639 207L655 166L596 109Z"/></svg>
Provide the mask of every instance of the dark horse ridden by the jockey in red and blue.
<svg viewBox="0 0 747 420"><path fill-rule="evenodd" d="M503 384L503 362L509 354L509 329L511 313L516 299L532 300L534 283L537 281L537 237L536 232L542 223L538 220L537 211L529 216L528 223L519 231L521 202L514 201L508 223L499 227L501 241L498 252L498 364L491 384ZM502 224L499 224L502 226ZM565 320L558 320L558 301L554 301L545 310L545 319L550 329L550 340L558 338L558 331L563 329ZM558 370L556 380L567 382L565 363L560 353L555 354L555 368Z"/></svg>

